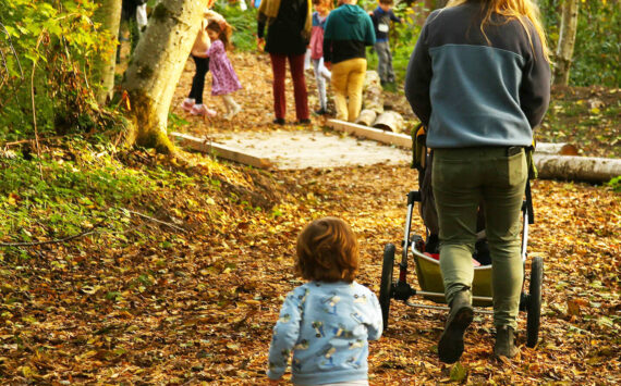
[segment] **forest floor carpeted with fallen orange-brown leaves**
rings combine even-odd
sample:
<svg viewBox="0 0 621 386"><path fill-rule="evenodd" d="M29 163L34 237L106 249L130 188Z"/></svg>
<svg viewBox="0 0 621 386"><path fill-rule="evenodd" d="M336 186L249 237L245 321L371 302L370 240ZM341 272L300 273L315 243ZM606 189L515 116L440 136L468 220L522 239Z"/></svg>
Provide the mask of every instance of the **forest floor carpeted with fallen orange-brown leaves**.
<svg viewBox="0 0 621 386"><path fill-rule="evenodd" d="M232 58L244 112L232 122L183 114L176 105L190 89L188 63L173 102L173 129L322 133L322 117L313 117L312 126L271 125L267 57ZM596 116L593 128L560 129L563 140L581 139L584 154L619 158L619 121L607 107L619 111L621 91L560 92L567 103L555 117L562 123L548 127ZM593 98L602 104L588 102ZM393 99L406 113L403 99ZM577 116L561 114L579 100L592 105ZM211 97L207 103L221 105ZM293 121L293 105L288 111ZM133 216L122 242L90 235L33 247L27 259L0 254L2 383L266 384L271 328L287 292L303 283L292 270L301 228L326 215L350 223L361 245L357 281L378 292L383 246L402 239L405 194L417 185L407 162L266 172L227 162L180 166L146 151L118 158L137 172L170 173L132 200L149 216ZM200 163L203 155L188 158ZM492 359L494 328L482 314L466 333L460 363L447 365L437 357L446 312L393 301L389 328L370 343L372 385L621 382L621 197L606 186L556 180L535 180L533 195L529 257L545 264L537 346L525 347L521 313L521 353ZM424 232L417 215L413 229ZM416 286L414 274L407 278Z"/></svg>

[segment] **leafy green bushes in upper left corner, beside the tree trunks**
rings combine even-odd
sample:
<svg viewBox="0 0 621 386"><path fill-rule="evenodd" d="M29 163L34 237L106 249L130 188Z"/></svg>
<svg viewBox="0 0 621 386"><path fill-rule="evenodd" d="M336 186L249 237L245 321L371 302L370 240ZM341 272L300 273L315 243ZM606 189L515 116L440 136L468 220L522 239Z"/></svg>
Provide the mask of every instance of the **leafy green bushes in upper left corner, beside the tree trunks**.
<svg viewBox="0 0 621 386"><path fill-rule="evenodd" d="M93 1L0 2L0 139L95 128L90 63L115 39L99 32ZM35 111L33 111L33 108Z"/></svg>

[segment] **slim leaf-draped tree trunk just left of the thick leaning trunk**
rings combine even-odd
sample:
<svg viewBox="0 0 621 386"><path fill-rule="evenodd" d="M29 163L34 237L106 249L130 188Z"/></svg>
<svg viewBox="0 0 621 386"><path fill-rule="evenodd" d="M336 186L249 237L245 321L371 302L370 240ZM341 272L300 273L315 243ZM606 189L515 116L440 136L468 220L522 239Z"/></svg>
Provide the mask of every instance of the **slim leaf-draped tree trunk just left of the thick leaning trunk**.
<svg viewBox="0 0 621 386"><path fill-rule="evenodd" d="M101 24L101 30L110 34L110 38L117 42L119 35L119 24L121 23L122 0L101 0L100 5L95 11L94 18ZM114 70L117 66L115 53L117 45L111 45L111 51L104 52L101 57L94 61L90 84L98 85L97 102L105 104L112 98L114 89Z"/></svg>

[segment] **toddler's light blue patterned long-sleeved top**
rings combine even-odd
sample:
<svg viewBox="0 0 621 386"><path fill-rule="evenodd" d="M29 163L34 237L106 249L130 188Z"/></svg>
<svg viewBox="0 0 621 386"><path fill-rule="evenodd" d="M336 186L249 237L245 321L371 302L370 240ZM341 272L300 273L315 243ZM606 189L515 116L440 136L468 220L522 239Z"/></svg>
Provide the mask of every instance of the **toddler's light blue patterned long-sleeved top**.
<svg viewBox="0 0 621 386"><path fill-rule="evenodd" d="M368 288L356 282L306 283L280 309L267 376L280 378L293 352L295 385L365 381L368 340L379 339L381 331L381 309Z"/></svg>

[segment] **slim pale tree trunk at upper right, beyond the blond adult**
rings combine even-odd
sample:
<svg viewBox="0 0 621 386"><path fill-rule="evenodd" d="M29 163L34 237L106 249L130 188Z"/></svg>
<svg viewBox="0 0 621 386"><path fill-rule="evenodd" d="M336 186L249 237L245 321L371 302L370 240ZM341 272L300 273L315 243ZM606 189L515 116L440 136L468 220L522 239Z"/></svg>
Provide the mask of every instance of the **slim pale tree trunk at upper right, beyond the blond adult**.
<svg viewBox="0 0 621 386"><path fill-rule="evenodd" d="M577 30L579 0L564 0L562 5L561 28L557 47L557 64L555 67L555 85L569 83L569 73Z"/></svg>

